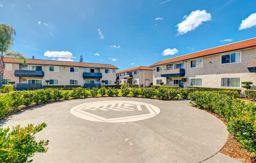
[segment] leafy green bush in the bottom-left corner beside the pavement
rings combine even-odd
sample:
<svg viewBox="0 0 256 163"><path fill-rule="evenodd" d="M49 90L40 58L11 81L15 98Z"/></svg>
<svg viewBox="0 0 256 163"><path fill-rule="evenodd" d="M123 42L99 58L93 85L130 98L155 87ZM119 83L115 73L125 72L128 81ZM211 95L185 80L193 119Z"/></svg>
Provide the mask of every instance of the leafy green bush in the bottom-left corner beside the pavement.
<svg viewBox="0 0 256 163"><path fill-rule="evenodd" d="M35 152L46 152L49 140L36 141L35 134L42 131L46 127L46 123L27 127L17 125L10 131L0 128L0 162L1 163L25 163L33 160L28 160L34 156Z"/></svg>

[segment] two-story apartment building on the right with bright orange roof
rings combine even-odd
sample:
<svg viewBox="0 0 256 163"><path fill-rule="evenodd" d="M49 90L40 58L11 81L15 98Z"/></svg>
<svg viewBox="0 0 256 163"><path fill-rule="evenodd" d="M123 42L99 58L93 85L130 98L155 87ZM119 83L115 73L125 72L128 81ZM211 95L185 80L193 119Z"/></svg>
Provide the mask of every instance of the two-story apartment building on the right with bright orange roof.
<svg viewBox="0 0 256 163"><path fill-rule="evenodd" d="M256 84L256 38L162 60L150 67L153 85L242 89L241 82Z"/></svg>

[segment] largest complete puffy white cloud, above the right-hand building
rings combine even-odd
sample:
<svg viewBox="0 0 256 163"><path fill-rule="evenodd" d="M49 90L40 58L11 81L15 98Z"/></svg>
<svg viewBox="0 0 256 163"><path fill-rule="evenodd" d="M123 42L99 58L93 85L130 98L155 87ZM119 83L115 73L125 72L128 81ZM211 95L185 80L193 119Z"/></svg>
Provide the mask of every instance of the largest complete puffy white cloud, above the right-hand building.
<svg viewBox="0 0 256 163"><path fill-rule="evenodd" d="M188 31L192 31L196 29L199 25L203 22L207 22L211 20L212 16L210 13L207 13L205 10L196 10L192 11L189 15L183 16L183 20L181 23L177 24L178 27L178 34L185 34Z"/></svg>

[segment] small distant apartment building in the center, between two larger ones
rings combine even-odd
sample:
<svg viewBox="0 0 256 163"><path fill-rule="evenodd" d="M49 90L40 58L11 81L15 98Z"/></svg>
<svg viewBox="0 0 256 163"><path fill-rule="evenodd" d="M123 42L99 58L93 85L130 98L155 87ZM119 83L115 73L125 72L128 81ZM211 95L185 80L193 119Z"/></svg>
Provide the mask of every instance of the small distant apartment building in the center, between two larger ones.
<svg viewBox="0 0 256 163"><path fill-rule="evenodd" d="M132 84L138 85L138 87L149 87L153 82L153 69L148 66L138 66L123 71L117 71L117 83L128 83L127 78L132 77Z"/></svg>

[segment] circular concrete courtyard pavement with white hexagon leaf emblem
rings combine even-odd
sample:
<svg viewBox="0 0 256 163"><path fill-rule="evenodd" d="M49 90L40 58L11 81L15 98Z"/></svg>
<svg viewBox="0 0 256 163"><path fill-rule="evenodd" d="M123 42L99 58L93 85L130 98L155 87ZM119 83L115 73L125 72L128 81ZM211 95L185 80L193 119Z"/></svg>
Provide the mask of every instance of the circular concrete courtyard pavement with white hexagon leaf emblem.
<svg viewBox="0 0 256 163"><path fill-rule="evenodd" d="M73 108L80 108L80 116ZM36 163L199 163L214 156L228 137L225 124L187 100L122 97L50 103L11 116L3 127L42 122L48 126L37 138L49 139L49 150L36 153Z"/></svg>

